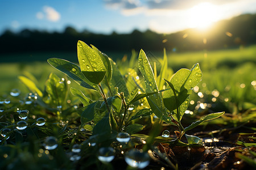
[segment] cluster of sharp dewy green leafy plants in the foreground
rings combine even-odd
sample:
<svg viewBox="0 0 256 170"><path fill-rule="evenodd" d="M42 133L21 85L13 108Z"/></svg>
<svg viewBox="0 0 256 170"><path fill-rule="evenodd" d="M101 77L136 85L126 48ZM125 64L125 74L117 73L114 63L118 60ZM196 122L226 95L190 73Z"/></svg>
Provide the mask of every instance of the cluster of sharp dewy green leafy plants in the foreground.
<svg viewBox="0 0 256 170"><path fill-rule="evenodd" d="M144 78L143 85L145 88L143 89L137 84L138 88L135 88L129 94L126 83L117 66L106 54L101 53L93 45L90 48L84 42L79 41L77 43L77 56L80 66L59 58L50 58L48 62L71 77L80 86L97 91L102 96L103 101L98 100L89 103L90 99L85 97L80 90L71 89L72 94L80 97L81 102L84 104L84 111L81 113L81 127L85 125L87 125L86 127L92 126L91 138L97 138L98 142L102 142L102 138L106 139L105 137L110 136L110 134L121 132L123 125L125 125L126 129L124 131L126 132L137 133L141 131L143 125L128 124L135 118L148 116L152 113L160 120L179 128L179 133L176 133L177 139L174 140L179 142L186 131L195 128L204 121L212 120L224 114L224 112L208 114L187 128L183 128L181 125L180 121L188 107L192 88L200 82L202 77L198 63L191 70L180 69L177 71L170 82L165 79L168 86L165 90L159 91L158 85L163 87L164 84L162 79L164 78L163 73L167 71L167 62L163 62L160 75L156 78L156 71L154 75L146 54L141 50L138 65ZM164 55L164 60L167 61L166 55ZM156 84L156 80L158 84ZM106 96L102 84L108 89L109 97ZM144 108L133 117L127 115L130 106L144 97L146 97L151 111ZM126 125L128 126L126 127ZM105 131L102 133L101 129L103 128ZM200 143L200 139L197 137L190 135L186 135L186 137L189 144Z"/></svg>

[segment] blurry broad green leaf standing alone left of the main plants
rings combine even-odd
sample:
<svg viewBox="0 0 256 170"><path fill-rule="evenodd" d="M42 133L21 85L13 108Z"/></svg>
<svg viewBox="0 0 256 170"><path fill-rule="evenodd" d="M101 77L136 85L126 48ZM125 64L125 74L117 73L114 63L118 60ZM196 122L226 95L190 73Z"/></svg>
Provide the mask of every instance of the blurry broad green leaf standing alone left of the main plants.
<svg viewBox="0 0 256 170"><path fill-rule="evenodd" d="M49 79L46 81L46 92L52 99L52 103L56 106L62 105L65 103L68 91L67 84L60 83L60 78L51 73Z"/></svg>

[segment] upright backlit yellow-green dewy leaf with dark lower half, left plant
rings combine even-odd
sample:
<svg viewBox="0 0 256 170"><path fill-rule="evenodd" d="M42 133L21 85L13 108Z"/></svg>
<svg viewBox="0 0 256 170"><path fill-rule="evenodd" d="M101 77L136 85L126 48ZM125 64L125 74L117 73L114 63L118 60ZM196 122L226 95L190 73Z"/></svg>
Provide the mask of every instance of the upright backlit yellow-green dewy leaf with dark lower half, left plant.
<svg viewBox="0 0 256 170"><path fill-rule="evenodd" d="M77 42L77 58L82 74L92 83L99 84L106 75L100 55L85 42Z"/></svg>

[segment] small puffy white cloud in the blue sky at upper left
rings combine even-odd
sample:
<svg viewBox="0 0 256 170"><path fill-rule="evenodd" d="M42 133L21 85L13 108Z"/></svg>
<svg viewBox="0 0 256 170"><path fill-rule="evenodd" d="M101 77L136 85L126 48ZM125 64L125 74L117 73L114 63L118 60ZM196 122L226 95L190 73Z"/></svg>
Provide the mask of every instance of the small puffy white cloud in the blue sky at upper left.
<svg viewBox="0 0 256 170"><path fill-rule="evenodd" d="M46 18L47 20L51 22L57 22L60 20L60 13L55 10L55 8L50 7L50 6L44 6L43 7L43 12L37 12L36 13L36 18L37 19L44 19Z"/></svg>

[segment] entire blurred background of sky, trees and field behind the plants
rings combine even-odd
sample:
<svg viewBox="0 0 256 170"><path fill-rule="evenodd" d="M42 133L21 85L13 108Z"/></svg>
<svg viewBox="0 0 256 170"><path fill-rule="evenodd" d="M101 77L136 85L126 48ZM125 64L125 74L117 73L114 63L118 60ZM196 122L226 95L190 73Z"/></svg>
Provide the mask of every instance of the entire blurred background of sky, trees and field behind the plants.
<svg viewBox="0 0 256 170"><path fill-rule="evenodd" d="M241 109L256 105L255 0L0 0L0 15L2 96L27 91L19 75L34 75L41 88L49 73L63 76L47 59L77 63L82 40L118 66L140 49L161 62L165 48L174 71L200 63L197 97L209 96L208 103L220 97Z"/></svg>

